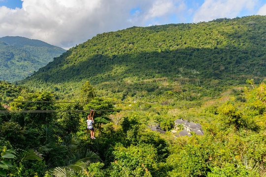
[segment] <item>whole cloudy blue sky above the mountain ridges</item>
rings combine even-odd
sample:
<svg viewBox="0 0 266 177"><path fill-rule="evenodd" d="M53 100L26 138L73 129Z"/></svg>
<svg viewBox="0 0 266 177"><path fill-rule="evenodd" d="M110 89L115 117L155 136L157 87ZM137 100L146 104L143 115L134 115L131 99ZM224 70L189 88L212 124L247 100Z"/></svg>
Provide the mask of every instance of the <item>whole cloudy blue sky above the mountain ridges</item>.
<svg viewBox="0 0 266 177"><path fill-rule="evenodd" d="M0 0L0 37L65 49L102 32L266 15L266 0Z"/></svg>

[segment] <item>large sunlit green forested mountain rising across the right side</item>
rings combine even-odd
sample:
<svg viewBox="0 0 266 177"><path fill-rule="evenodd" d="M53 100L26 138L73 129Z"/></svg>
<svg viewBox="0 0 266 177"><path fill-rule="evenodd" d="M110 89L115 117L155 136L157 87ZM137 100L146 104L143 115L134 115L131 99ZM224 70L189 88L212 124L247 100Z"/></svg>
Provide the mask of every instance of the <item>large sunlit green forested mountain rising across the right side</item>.
<svg viewBox="0 0 266 177"><path fill-rule="evenodd" d="M187 78L197 84L262 80L265 29L266 16L248 16L106 32L69 49L19 84L73 93L86 81L108 85L106 90L119 83L122 92L128 83L152 84L156 78Z"/></svg>

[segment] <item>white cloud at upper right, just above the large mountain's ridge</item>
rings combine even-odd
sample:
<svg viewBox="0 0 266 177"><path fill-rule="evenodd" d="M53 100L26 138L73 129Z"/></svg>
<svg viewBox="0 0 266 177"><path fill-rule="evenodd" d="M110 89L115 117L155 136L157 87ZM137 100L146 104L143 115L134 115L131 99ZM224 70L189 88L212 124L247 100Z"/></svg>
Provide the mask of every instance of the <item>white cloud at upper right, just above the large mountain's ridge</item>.
<svg viewBox="0 0 266 177"><path fill-rule="evenodd" d="M205 0L195 12L193 22L234 18L242 10L253 10L258 0Z"/></svg>

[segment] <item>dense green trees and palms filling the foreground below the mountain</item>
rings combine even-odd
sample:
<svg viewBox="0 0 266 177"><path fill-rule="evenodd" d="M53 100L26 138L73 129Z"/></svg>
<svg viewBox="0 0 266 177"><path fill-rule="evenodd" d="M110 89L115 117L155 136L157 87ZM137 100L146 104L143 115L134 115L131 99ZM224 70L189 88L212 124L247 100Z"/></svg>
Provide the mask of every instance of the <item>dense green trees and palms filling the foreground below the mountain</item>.
<svg viewBox="0 0 266 177"><path fill-rule="evenodd" d="M266 85L240 89L190 109L152 104L141 111L141 104L132 102L131 110L138 110L126 111L128 104L119 103L120 112L108 111L114 109L114 100L99 97L82 107L77 101L50 102L54 98L49 92L23 93L17 101L45 102L13 102L11 110L62 112L3 114L1 150L9 149L16 157L2 162L6 165L1 173L12 177L264 177ZM86 130L86 114L74 112L83 109L97 110L96 140ZM171 130L176 118L200 122L204 136L175 137L147 128L165 122Z"/></svg>

